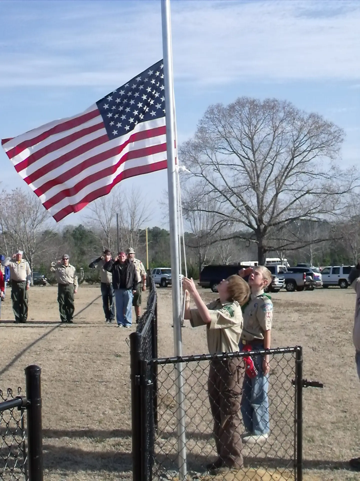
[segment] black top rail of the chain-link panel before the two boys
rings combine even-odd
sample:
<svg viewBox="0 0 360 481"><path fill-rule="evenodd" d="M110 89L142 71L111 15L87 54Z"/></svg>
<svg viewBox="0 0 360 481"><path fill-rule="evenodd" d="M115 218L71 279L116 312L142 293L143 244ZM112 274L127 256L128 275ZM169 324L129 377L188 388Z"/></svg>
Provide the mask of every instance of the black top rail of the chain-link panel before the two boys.
<svg viewBox="0 0 360 481"><path fill-rule="evenodd" d="M236 351L234 353L222 353L222 354L192 354L190 356L177 356L177 357L161 357L157 359L148 359L147 364L178 364L181 362L188 363L193 361L211 361L218 359L222 361L224 359L232 359L234 357L246 357L258 354L294 354L300 351L301 346L295 347L276 347L274 349L259 349L254 351Z"/></svg>

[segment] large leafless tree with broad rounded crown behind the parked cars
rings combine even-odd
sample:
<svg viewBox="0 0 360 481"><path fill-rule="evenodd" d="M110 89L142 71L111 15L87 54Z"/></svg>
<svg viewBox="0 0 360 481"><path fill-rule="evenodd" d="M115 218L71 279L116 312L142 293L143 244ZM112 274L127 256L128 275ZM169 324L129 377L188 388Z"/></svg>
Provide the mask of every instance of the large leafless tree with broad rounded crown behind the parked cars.
<svg viewBox="0 0 360 481"><path fill-rule="evenodd" d="M241 97L210 106L180 158L194 185L204 183L215 196L215 214L237 237L256 242L264 263L266 252L282 247L271 230L341 210L341 196L357 176L335 163L343 139L343 130L319 114L287 101ZM213 211L204 203L201 209Z"/></svg>

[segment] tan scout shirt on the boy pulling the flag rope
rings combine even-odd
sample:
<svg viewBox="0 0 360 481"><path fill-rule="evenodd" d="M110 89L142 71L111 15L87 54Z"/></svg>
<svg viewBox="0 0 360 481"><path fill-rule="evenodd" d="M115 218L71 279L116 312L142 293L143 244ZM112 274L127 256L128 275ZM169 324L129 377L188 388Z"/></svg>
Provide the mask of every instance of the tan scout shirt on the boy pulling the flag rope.
<svg viewBox="0 0 360 481"><path fill-rule="evenodd" d="M221 304L220 300L207 304L211 322L205 323L197 309L191 309L192 327L206 325L207 347L210 354L233 353L239 351L242 331L242 312L236 301Z"/></svg>

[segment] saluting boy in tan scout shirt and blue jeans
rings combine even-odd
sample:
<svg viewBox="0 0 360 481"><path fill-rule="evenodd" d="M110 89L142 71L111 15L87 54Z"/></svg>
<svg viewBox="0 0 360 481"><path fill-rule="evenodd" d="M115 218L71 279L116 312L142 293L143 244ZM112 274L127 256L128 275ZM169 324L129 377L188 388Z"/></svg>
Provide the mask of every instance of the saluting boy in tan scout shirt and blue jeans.
<svg viewBox="0 0 360 481"><path fill-rule="evenodd" d="M254 351L270 349L273 303L264 294L264 287L272 280L271 272L264 266L257 266L241 269L239 275L249 275L251 288L251 299L243 307L244 326L239 350L244 345L250 345ZM241 397L241 414L246 430L242 442L248 444L264 443L270 430L267 397L269 355L258 355L253 361L258 374L252 379L245 374Z"/></svg>

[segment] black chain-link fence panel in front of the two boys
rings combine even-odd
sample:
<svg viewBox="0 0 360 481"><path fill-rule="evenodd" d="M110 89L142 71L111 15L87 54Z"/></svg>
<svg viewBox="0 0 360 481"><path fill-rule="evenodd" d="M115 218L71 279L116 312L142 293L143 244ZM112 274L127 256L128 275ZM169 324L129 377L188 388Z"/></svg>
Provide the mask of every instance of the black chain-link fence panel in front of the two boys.
<svg viewBox="0 0 360 481"><path fill-rule="evenodd" d="M142 358L133 479L300 481L302 350L266 351L269 377L245 374L244 357L259 368L264 354Z"/></svg>

